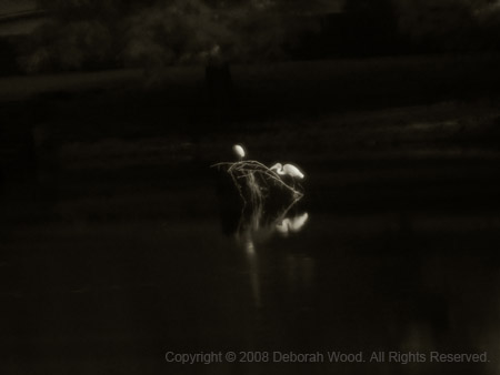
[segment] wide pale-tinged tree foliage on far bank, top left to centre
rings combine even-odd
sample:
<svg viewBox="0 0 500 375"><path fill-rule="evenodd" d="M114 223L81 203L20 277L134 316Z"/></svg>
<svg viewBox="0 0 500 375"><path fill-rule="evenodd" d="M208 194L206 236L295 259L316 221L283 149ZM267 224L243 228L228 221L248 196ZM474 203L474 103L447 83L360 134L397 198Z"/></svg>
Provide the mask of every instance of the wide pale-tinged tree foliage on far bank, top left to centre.
<svg viewBox="0 0 500 375"><path fill-rule="evenodd" d="M282 58L316 26L297 13L327 0L38 0L51 20L22 50L28 72Z"/></svg>

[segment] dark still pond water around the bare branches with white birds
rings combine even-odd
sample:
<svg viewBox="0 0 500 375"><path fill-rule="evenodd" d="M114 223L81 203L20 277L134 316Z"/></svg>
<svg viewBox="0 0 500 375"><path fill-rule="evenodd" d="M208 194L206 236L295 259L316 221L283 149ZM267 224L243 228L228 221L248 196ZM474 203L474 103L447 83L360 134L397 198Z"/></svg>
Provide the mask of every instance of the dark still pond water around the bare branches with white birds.
<svg viewBox="0 0 500 375"><path fill-rule="evenodd" d="M60 148L60 170L6 179L2 373L498 373L497 152L319 151L317 134L279 150L301 162L304 197L240 231L209 168L230 139L172 145L186 158L170 164L137 156L153 141L74 143ZM270 148L253 152L276 161ZM166 361L229 351L324 358ZM328 352L367 362L330 363ZM386 361L369 362L372 352ZM389 362L389 352L424 361ZM488 362L436 363L430 352L487 352Z"/></svg>

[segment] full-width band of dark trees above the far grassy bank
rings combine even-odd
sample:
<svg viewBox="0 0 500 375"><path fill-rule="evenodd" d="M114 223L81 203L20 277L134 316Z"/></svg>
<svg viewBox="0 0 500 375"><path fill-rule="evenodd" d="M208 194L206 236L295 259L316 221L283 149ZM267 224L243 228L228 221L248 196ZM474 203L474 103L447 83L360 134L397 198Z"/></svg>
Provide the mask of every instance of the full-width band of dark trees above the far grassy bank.
<svg viewBox="0 0 500 375"><path fill-rule="evenodd" d="M326 2L39 0L49 21L2 40L0 74L156 71L203 64L214 45L234 63L500 48L500 8L489 0L347 0L337 13Z"/></svg>

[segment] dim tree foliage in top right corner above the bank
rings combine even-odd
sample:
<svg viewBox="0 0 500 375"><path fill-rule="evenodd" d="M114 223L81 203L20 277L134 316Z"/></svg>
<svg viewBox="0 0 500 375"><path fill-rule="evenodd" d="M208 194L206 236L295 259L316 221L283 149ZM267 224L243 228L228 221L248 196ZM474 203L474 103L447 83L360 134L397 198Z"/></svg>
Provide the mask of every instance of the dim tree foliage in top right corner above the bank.
<svg viewBox="0 0 500 375"><path fill-rule="evenodd" d="M378 19L373 32L393 28L422 52L499 49L500 0L346 0L343 11Z"/></svg>

